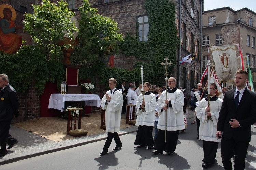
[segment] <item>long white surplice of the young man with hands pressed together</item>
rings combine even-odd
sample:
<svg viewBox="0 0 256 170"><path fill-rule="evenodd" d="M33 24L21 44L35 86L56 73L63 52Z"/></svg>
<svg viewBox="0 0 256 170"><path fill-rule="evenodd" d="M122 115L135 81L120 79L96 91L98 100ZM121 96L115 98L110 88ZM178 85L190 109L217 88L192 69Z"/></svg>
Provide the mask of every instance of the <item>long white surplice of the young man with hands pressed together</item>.
<svg viewBox="0 0 256 170"><path fill-rule="evenodd" d="M121 112L123 106L123 95L122 92L116 90L113 94L110 94L110 90L107 91L108 95L111 96L111 100L106 104L106 95L101 100L101 107L106 110L105 113L105 125L106 132L119 132L121 124Z"/></svg>

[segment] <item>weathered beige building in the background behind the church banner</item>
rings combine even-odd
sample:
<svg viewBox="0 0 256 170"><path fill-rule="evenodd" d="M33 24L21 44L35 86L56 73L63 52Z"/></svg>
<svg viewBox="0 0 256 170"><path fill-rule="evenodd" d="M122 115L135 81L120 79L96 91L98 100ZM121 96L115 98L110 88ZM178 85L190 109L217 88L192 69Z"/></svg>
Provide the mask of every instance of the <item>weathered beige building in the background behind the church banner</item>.
<svg viewBox="0 0 256 170"><path fill-rule="evenodd" d="M255 37L256 13L252 10L243 8L235 11L230 7L224 7L204 11L203 69L207 66L207 47L231 44L240 44L242 55L249 56L250 66L254 68L256 56ZM237 56L240 56L238 51ZM255 87L256 80L254 82Z"/></svg>

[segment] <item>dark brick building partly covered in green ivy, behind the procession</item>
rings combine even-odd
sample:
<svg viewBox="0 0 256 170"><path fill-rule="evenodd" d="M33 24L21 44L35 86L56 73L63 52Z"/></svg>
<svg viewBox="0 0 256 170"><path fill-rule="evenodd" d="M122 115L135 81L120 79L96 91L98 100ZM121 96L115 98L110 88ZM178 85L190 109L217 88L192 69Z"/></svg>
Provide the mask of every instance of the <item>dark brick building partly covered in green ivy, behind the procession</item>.
<svg viewBox="0 0 256 170"><path fill-rule="evenodd" d="M77 8L79 1L70 0L70 6ZM136 34L136 22L139 24L139 41L147 41L150 28L148 15L144 3L146 0L89 0L91 7L98 8L98 13L111 16L124 36L127 33ZM195 57L191 63L180 65L179 62L172 72L177 79L177 86L189 91L195 86L201 75L201 35L203 0L169 0L175 4L175 20L177 36L180 38L180 47L177 50L177 61L192 54ZM167 56L168 57L168 56ZM132 70L139 61L136 57L127 57L120 53L114 58L114 67Z"/></svg>

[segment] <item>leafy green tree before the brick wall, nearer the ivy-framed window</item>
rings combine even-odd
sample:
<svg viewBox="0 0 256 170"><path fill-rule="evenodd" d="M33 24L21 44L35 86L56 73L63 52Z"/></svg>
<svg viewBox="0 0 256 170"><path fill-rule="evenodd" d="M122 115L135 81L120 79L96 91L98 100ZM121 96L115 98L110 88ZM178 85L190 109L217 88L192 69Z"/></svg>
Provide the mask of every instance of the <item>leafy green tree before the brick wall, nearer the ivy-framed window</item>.
<svg viewBox="0 0 256 170"><path fill-rule="evenodd" d="M123 41L117 22L111 17L97 14L97 9L90 7L88 0L82 0L79 7L81 20L77 38L79 45L75 47L73 64L94 63L96 60L118 54L118 42Z"/></svg>

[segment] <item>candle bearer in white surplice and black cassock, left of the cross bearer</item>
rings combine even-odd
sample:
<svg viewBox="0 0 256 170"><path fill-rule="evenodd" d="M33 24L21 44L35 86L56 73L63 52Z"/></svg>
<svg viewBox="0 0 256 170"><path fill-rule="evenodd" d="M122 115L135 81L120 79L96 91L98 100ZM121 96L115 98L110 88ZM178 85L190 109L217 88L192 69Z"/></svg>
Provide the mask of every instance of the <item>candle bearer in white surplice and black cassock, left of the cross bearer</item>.
<svg viewBox="0 0 256 170"><path fill-rule="evenodd" d="M143 84L145 94L140 94L136 102L137 119L135 125L139 127L134 144L139 145L137 148L147 146L147 149L152 149L154 146L152 131L155 119L156 96L150 92L150 86L151 84L148 82Z"/></svg>

